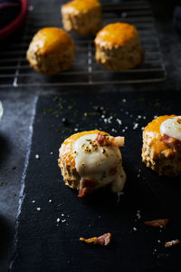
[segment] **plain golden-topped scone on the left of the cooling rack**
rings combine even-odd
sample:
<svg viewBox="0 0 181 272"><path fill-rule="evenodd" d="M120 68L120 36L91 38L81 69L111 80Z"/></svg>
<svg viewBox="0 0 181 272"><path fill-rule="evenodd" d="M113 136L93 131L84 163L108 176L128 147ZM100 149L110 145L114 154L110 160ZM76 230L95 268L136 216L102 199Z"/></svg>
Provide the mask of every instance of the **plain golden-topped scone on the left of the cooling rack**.
<svg viewBox="0 0 181 272"><path fill-rule="evenodd" d="M53 74L67 70L74 58L71 36L56 27L46 27L34 35L26 58L34 70Z"/></svg>

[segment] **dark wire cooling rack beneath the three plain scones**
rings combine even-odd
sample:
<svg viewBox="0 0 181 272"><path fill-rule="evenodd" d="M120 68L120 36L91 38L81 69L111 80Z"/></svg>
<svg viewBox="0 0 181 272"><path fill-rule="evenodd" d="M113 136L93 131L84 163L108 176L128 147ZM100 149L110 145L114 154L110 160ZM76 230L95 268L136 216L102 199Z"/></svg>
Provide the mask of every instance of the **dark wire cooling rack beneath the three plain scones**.
<svg viewBox="0 0 181 272"><path fill-rule="evenodd" d="M51 5L51 9L45 9L46 12L30 5L24 31L11 44L1 45L0 87L151 83L165 80L166 69L148 2L127 0L119 4L102 5L102 9L104 25L125 22L138 28L141 46L145 51L143 64L124 72L108 72L95 61L93 38L71 34L76 44L75 61L71 69L52 76L36 73L25 58L33 34L46 26L62 27L62 18L60 5Z"/></svg>

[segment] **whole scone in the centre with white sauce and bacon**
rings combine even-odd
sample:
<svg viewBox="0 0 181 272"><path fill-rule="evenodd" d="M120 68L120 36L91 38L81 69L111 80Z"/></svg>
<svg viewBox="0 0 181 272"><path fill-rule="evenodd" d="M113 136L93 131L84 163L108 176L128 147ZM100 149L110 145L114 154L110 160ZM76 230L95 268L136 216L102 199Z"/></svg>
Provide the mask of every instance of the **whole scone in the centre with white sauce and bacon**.
<svg viewBox="0 0 181 272"><path fill-rule="evenodd" d="M79 197L110 184L113 192L123 189L126 174L119 146L123 137L103 131L84 131L71 135L59 150L58 164L65 184L79 189Z"/></svg>

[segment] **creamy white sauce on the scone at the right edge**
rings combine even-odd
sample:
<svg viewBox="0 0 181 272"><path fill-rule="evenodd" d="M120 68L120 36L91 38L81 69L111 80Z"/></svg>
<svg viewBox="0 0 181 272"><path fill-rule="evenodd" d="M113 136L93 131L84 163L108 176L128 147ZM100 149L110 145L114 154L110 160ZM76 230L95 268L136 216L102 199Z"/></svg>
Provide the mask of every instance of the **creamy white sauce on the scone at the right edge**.
<svg viewBox="0 0 181 272"><path fill-rule="evenodd" d="M161 135L176 138L181 141L181 116L176 116L163 121L160 125Z"/></svg>

